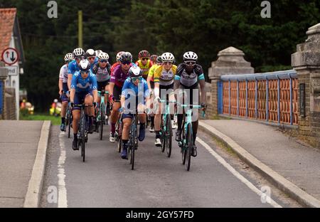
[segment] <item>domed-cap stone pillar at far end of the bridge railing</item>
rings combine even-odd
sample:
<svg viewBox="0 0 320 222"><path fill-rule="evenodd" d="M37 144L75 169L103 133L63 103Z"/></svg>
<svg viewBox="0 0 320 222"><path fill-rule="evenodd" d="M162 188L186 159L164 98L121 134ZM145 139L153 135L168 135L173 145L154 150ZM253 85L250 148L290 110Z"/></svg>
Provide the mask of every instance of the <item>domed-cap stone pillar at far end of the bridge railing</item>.
<svg viewBox="0 0 320 222"><path fill-rule="evenodd" d="M229 47L218 53L218 60L211 63L208 77L211 80L211 101L209 103L209 115L218 115L218 83L221 75L240 75L255 73L251 63L244 58L245 53L238 48Z"/></svg>

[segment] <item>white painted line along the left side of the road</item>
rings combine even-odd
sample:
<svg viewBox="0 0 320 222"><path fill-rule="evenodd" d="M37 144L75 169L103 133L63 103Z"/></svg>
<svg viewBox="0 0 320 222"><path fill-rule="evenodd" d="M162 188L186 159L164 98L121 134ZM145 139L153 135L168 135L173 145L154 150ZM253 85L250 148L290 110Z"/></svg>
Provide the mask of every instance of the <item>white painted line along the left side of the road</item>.
<svg viewBox="0 0 320 222"><path fill-rule="evenodd" d="M65 133L60 132L59 144L60 144L60 157L58 160L58 208L67 208L67 189L65 188L65 144L63 137Z"/></svg>

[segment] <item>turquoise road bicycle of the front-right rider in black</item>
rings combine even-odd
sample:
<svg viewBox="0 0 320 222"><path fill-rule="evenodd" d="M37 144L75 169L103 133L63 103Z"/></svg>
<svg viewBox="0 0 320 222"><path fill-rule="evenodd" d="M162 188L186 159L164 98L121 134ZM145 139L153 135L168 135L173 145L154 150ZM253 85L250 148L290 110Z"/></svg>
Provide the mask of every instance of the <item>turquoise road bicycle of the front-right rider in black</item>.
<svg viewBox="0 0 320 222"><path fill-rule="evenodd" d="M181 147L182 154L182 164L186 166L186 170L190 170L191 157L193 152L193 131L192 131L192 110L203 108L201 105L183 105L179 104L178 106L186 109L186 114L183 118L183 129L182 129L182 138L178 142L179 147ZM205 116L205 112L202 112L202 116Z"/></svg>

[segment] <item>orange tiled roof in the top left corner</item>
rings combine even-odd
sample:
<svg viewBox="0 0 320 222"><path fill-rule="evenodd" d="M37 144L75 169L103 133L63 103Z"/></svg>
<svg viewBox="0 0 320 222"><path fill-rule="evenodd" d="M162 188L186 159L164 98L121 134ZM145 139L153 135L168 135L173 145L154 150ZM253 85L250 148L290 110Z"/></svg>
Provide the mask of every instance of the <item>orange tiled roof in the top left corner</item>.
<svg viewBox="0 0 320 222"><path fill-rule="evenodd" d="M4 49L9 47L15 19L15 8L0 9L0 55Z"/></svg>

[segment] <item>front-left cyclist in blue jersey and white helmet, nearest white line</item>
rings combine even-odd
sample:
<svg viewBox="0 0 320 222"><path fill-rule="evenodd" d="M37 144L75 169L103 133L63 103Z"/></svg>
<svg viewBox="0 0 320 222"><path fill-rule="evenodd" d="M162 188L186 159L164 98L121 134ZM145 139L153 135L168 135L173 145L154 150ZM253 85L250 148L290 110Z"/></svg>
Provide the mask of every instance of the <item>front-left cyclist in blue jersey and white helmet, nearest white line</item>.
<svg viewBox="0 0 320 222"><path fill-rule="evenodd" d="M80 120L80 108L74 105L93 104L93 107L87 107L86 118L89 121L88 132L93 132L93 115L95 114L95 107L97 105L97 79L95 74L90 70L90 63L88 60L81 60L79 63L80 70L75 72L71 82L70 90L70 105L73 107L73 149L78 148L78 122Z"/></svg>

